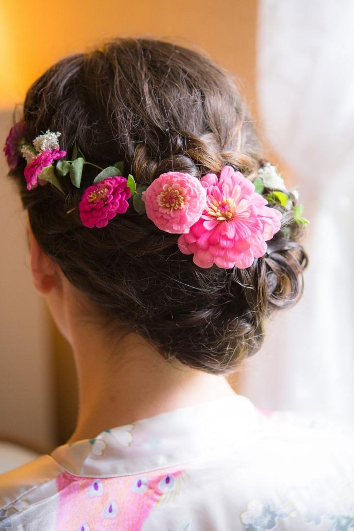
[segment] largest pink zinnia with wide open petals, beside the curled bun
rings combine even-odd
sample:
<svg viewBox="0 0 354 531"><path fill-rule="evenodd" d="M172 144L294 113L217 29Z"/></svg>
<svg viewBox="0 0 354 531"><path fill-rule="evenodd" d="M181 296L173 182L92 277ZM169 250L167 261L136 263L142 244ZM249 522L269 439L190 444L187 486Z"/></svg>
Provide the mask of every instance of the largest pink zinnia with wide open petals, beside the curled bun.
<svg viewBox="0 0 354 531"><path fill-rule="evenodd" d="M281 212L265 205L254 185L242 173L225 166L219 180L215 174L201 178L207 191L207 206L188 234L178 238L182 253L208 268L250 267L267 250L266 240L280 229Z"/></svg>

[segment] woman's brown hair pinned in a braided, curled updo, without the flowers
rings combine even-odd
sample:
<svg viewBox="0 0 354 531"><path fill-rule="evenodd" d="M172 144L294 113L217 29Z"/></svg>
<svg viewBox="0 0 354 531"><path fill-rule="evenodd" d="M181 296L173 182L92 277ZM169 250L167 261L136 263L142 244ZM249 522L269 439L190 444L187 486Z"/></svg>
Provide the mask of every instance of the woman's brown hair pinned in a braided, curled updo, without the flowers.
<svg viewBox="0 0 354 531"><path fill-rule="evenodd" d="M200 178L226 164L252 179L265 164L231 76L199 53L153 39L115 39L59 61L29 89L24 121L29 143L60 131L68 154L77 143L102 167L123 160L137 183L169 170ZM260 348L270 313L302 294L307 258L292 212L251 267L201 269L179 251L178 234L132 208L93 229L77 208L67 213L92 184L92 167L79 190L61 179L64 198L51 185L26 190L24 164L10 175L42 249L113 329L134 330L166 359L232 372Z"/></svg>

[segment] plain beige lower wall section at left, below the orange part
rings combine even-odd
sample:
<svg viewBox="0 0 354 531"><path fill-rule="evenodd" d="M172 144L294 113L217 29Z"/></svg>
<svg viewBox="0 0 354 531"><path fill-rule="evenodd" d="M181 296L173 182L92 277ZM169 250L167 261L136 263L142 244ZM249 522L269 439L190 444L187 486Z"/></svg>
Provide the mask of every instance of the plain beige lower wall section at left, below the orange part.
<svg viewBox="0 0 354 531"><path fill-rule="evenodd" d="M0 113L0 143L11 124ZM25 216L0 157L0 439L34 448L56 440L50 333L45 305L34 290L29 270Z"/></svg>

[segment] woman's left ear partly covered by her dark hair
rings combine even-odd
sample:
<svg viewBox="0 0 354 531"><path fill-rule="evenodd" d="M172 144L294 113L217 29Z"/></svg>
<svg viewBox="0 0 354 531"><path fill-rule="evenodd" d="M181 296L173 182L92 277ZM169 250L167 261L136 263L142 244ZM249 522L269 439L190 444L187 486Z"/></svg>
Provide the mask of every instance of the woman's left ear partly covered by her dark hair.
<svg viewBox="0 0 354 531"><path fill-rule="evenodd" d="M27 229L30 243L33 284L40 293L46 295L58 282L58 267L38 244L28 219Z"/></svg>

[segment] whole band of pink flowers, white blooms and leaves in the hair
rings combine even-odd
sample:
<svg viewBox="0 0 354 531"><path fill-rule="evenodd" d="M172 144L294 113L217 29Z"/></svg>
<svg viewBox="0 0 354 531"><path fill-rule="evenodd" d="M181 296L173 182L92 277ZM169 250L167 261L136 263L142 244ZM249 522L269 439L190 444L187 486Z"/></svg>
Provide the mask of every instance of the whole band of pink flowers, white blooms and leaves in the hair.
<svg viewBox="0 0 354 531"><path fill-rule="evenodd" d="M295 205L297 191L286 193L283 179L270 162L259 169L253 182L224 166L219 177L208 173L199 180L187 173L168 172L149 185L136 187L132 175L122 176L122 162L101 168L85 160L76 146L72 160L63 160L66 151L59 148L61 133L48 130L30 145L25 132L25 123L15 124L4 152L11 168L19 164L20 157L25 158L28 190L49 182L64 193L59 177L67 175L79 188L84 165L95 166L100 173L78 203L85 227L107 226L110 219L128 210L132 198L130 203L140 215L146 214L165 232L180 234L179 250L193 254L193 262L201 268L213 264L226 269L250 267L267 251L265 242L281 229L283 212L292 210L301 226L308 223L302 217L303 206ZM270 190L265 196L264 189Z"/></svg>

